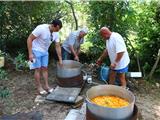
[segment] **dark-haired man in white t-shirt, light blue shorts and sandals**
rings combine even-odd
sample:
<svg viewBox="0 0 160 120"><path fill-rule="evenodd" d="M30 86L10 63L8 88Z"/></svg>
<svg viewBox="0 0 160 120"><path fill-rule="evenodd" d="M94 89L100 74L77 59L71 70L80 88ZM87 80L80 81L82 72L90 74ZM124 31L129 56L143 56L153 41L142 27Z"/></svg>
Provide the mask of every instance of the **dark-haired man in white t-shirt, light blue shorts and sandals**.
<svg viewBox="0 0 160 120"><path fill-rule="evenodd" d="M48 48L52 42L55 42L59 64L62 65L58 33L61 27L62 22L60 20L53 20L51 24L38 25L27 39L29 60L32 61L31 69L35 70L34 78L36 80L37 90L40 94L47 94L47 92L53 91L48 84ZM41 73L45 80L45 90L40 82Z"/></svg>

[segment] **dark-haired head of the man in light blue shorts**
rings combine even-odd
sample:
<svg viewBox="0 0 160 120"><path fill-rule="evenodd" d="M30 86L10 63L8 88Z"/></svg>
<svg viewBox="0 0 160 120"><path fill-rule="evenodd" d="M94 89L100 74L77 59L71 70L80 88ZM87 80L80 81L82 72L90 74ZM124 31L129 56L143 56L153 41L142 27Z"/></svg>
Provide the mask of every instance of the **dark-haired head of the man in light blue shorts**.
<svg viewBox="0 0 160 120"><path fill-rule="evenodd" d="M60 20L56 19L51 22L50 30L52 32L58 32L61 28L62 28L62 22Z"/></svg>

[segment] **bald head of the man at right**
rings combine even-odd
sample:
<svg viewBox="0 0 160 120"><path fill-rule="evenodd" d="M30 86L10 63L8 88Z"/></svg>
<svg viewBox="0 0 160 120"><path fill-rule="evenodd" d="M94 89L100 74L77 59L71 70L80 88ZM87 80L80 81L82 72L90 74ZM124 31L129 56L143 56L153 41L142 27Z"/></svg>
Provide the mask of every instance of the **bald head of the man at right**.
<svg viewBox="0 0 160 120"><path fill-rule="evenodd" d="M107 27L102 27L100 29L100 34L104 40L107 40L110 38L112 32Z"/></svg>

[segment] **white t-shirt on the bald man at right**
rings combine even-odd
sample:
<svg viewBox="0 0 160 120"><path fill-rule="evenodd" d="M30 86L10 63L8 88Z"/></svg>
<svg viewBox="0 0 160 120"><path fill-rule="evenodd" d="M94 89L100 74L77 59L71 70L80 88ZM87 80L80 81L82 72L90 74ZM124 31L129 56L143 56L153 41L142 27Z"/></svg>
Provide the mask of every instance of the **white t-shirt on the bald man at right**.
<svg viewBox="0 0 160 120"><path fill-rule="evenodd" d="M108 51L111 63L115 63L117 53L124 52L115 70L123 69L129 64L130 59L128 56L127 48L120 34L112 32L109 40L106 40L106 49Z"/></svg>

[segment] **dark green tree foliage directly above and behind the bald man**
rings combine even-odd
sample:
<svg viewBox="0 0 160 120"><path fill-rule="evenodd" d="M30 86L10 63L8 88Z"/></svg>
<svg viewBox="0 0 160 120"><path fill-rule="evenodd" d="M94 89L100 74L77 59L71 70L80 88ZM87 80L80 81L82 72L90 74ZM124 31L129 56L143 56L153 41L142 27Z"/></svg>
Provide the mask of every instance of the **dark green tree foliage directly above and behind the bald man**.
<svg viewBox="0 0 160 120"><path fill-rule="evenodd" d="M120 33L129 46L131 42L128 41L129 30L135 29L134 10L129 6L127 1L90 1L90 25L92 26L92 33L90 39L93 42L91 48L92 54L100 54L105 47L99 36L101 27L109 27L112 31ZM130 47L131 48L131 47Z"/></svg>

